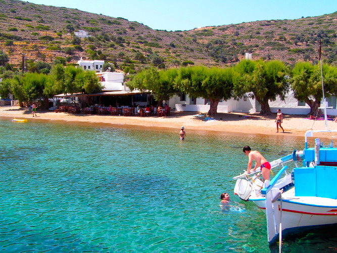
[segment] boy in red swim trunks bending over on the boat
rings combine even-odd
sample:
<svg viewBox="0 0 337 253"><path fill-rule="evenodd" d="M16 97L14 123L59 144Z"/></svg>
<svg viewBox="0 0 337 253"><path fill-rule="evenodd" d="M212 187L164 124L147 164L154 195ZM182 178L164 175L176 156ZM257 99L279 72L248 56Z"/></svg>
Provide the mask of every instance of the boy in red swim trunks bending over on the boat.
<svg viewBox="0 0 337 253"><path fill-rule="evenodd" d="M264 180L269 180L269 174L271 165L270 163L264 158L259 151L252 151L250 146L245 146L243 149L245 155L248 156L248 166L246 174L251 172L253 160L255 161L255 167L252 171L255 171L258 167L261 167L262 177Z"/></svg>

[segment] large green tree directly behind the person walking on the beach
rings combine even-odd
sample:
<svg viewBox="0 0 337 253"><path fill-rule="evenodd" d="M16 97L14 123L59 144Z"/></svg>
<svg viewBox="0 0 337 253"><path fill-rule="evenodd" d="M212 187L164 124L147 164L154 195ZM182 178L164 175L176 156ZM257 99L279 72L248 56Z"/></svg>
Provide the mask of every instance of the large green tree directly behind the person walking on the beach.
<svg viewBox="0 0 337 253"><path fill-rule="evenodd" d="M261 105L261 114L271 114L268 101L278 96L284 100L289 89L288 69L280 61L240 61L235 71L234 90L237 96L251 93Z"/></svg>

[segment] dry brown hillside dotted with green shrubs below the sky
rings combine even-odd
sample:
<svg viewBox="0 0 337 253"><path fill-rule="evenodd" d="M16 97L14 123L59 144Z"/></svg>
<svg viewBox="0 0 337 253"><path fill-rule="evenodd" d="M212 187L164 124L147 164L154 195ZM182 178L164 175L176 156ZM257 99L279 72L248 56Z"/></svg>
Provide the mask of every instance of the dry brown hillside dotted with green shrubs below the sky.
<svg viewBox="0 0 337 253"><path fill-rule="evenodd" d="M253 59L317 61L319 39L324 59L337 62L337 12L169 32L121 17L16 0L0 0L0 10L1 49L17 66L21 53L45 62L56 57L69 63L80 57L103 59L128 72L148 65L224 66L244 58L246 52L253 53ZM74 40L73 32L79 29L92 36ZM14 45L5 46L8 40Z"/></svg>

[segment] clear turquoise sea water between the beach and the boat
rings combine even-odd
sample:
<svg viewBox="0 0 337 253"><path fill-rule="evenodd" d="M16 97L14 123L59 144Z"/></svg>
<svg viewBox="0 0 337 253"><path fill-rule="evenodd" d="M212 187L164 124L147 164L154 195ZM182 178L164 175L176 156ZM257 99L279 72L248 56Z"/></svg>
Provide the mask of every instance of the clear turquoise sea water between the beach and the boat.
<svg viewBox="0 0 337 253"><path fill-rule="evenodd" d="M302 139L0 120L0 250L268 252L265 216L233 195L242 147L269 159ZM229 192L232 202L221 206ZM284 252L332 250L336 232Z"/></svg>

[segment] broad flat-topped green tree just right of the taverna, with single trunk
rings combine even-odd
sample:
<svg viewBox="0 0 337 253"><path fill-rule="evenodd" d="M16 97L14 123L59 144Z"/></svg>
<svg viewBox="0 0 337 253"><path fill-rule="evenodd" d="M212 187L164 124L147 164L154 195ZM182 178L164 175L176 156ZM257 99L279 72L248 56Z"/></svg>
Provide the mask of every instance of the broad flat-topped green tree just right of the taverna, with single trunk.
<svg viewBox="0 0 337 253"><path fill-rule="evenodd" d="M211 105L208 114L216 115L219 101L233 96L233 69L184 67L179 69L175 83L178 90L190 96L209 99Z"/></svg>

